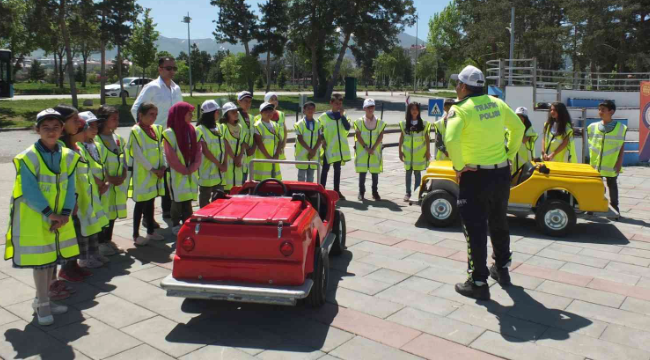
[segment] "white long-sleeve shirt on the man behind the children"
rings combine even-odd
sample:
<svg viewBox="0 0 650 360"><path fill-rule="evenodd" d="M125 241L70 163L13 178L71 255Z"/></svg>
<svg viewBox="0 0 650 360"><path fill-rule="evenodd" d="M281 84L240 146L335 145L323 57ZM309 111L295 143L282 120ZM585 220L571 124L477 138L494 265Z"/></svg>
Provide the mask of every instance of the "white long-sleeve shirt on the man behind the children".
<svg viewBox="0 0 650 360"><path fill-rule="evenodd" d="M133 119L138 121L138 108L145 102L151 102L158 107L158 117L155 124L167 128L167 115L169 109L176 103L183 101L180 86L176 85L174 81L171 82L171 87L168 87L163 79L159 76L158 79L148 83L142 88L140 95L135 99L131 107L131 115Z"/></svg>

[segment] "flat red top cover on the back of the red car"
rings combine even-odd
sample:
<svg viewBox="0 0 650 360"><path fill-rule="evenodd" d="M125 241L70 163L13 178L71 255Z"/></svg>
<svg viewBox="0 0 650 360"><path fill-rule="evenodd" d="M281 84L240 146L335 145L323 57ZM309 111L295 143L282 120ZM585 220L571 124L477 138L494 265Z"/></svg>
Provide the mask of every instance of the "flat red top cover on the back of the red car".
<svg viewBox="0 0 650 360"><path fill-rule="evenodd" d="M239 224L292 224L304 207L290 197L233 196L196 211L192 219Z"/></svg>

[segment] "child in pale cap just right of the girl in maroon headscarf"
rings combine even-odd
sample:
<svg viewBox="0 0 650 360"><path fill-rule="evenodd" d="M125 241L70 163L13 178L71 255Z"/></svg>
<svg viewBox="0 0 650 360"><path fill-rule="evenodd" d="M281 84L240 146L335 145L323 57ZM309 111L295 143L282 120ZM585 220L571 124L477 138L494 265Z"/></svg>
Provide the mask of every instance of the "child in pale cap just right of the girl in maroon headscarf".
<svg viewBox="0 0 650 360"><path fill-rule="evenodd" d="M210 203L217 191L223 191L227 170L226 141L223 129L217 125L221 117L221 107L214 100L206 100L201 105L201 118L196 127L196 140L201 142L205 160L199 167L199 206Z"/></svg>

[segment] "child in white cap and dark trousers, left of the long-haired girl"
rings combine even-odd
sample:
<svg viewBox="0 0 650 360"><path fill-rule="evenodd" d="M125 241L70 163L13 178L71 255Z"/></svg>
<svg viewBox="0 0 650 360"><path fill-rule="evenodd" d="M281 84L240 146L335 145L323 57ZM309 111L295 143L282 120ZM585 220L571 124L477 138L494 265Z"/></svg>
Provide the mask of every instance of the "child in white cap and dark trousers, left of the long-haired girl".
<svg viewBox="0 0 650 360"><path fill-rule="evenodd" d="M372 198L381 200L378 184L379 174L384 171L384 161L381 156L381 145L386 124L375 117L375 100L366 99L363 102L366 115L354 122L354 168L359 174L358 200L363 201L366 192L366 174L372 176Z"/></svg>

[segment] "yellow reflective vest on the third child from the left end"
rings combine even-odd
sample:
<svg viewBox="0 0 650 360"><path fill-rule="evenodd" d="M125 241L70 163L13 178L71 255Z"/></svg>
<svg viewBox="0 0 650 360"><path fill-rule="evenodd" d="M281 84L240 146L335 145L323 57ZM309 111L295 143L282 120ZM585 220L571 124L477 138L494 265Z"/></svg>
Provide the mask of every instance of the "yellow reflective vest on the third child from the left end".
<svg viewBox="0 0 650 360"><path fill-rule="evenodd" d="M91 171L90 154L82 143L77 143L77 146L79 147L79 162L75 170L77 217L81 225L81 236L89 237L101 232L102 228L108 225L108 218Z"/></svg>

